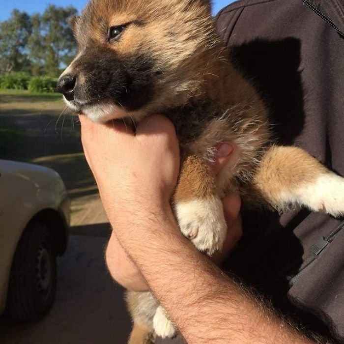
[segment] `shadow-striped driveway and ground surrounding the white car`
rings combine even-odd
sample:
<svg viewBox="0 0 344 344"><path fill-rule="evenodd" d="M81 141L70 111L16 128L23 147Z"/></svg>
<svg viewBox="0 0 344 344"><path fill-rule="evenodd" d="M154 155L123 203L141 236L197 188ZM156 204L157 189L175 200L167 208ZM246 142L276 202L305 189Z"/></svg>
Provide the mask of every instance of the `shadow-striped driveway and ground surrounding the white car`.
<svg viewBox="0 0 344 344"><path fill-rule="evenodd" d="M86 164L76 117L56 94L0 91L0 159L56 170L71 197L71 235L58 260L57 299L40 323L0 318L1 344L124 344L130 320L123 290L104 263L110 226Z"/></svg>

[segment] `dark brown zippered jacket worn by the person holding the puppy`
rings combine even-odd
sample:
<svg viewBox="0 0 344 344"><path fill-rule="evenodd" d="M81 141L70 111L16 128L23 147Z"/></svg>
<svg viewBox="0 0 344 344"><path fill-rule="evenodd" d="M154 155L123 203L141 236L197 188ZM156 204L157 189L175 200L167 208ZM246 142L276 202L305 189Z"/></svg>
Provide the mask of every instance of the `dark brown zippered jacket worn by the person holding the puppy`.
<svg viewBox="0 0 344 344"><path fill-rule="evenodd" d="M344 1L240 0L217 25L237 68L266 99L276 141L344 175ZM243 220L244 238L224 269L306 330L342 341L341 220L307 210L244 210Z"/></svg>

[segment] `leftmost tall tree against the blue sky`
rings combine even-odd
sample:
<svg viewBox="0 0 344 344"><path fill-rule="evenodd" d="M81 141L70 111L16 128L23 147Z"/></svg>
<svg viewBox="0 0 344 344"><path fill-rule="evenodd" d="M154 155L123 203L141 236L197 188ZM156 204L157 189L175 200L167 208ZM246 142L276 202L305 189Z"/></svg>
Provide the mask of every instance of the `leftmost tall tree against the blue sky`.
<svg viewBox="0 0 344 344"><path fill-rule="evenodd" d="M30 17L14 9L0 23L0 73L23 70L29 66L27 43L31 34Z"/></svg>

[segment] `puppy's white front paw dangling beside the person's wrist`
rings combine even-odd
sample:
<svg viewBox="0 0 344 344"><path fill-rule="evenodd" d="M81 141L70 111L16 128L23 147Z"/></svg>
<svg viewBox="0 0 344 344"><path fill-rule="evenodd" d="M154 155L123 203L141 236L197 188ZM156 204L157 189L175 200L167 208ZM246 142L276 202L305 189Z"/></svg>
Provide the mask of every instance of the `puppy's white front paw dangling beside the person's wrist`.
<svg viewBox="0 0 344 344"><path fill-rule="evenodd" d="M219 198L175 204L181 232L202 252L211 256L222 249L227 225Z"/></svg>

